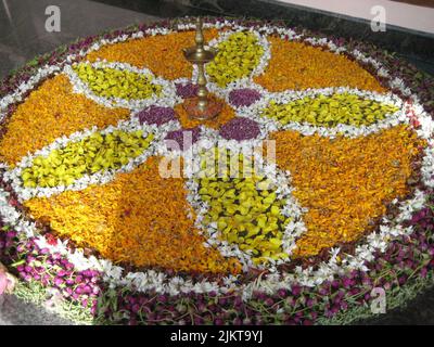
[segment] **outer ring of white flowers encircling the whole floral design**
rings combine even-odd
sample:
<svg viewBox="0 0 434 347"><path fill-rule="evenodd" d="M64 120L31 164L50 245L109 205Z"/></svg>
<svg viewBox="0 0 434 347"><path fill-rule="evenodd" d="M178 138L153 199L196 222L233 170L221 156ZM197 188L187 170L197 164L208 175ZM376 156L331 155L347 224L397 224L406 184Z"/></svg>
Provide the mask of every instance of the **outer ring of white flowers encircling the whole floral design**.
<svg viewBox="0 0 434 347"><path fill-rule="evenodd" d="M217 22L217 23L206 23L205 27L231 27L231 28L242 28L234 23L229 21ZM187 30L193 28L190 24L180 24L178 30ZM327 46L331 51L336 54L341 52L346 52L347 54L354 56L357 61L370 64L375 68L375 72L381 77L390 77L390 73L384 68L379 62L371 57L367 57L359 51L348 52L343 47L337 47L333 42L327 39L316 39L316 38L305 38L303 35L297 35L295 31L285 28L275 28L272 26L263 26L258 28L259 33L264 34L278 34L282 38L286 37L293 40L303 40L312 46ZM72 63L80 56L85 56L88 52L92 50L98 50L104 44L115 43L126 41L127 39L135 39L143 37L144 35L164 35L173 33L173 30L166 28L152 28L145 31L137 31L131 35L122 35L113 40L102 39L99 42L92 44L92 47L87 51L80 51L76 55L68 55L66 57L66 63ZM4 117L7 113L7 107L17 101L22 101L22 95L28 90L34 89L34 87L43 78L52 76L59 73L60 66L43 66L38 69L35 76L33 76L27 82L23 82L18 88L11 94L2 98L0 100L0 117ZM399 78L395 78L390 81L390 87L392 89L400 90L405 95L408 95L412 101L410 107L414 111L414 115L420 123L420 128L417 132L420 137L427 140L429 145L424 150L424 157L422 163L422 181L426 187L434 187L434 142L431 139L433 134L433 120L430 115L423 112L423 107L419 103L417 95L412 94L410 89L407 88L404 81ZM1 165L5 168L4 165ZM192 280L182 279L180 277L168 278L163 272L157 272L154 270L149 270L145 272L129 272L123 277L123 268L114 266L110 260L97 259L95 257L86 257L81 249L71 250L67 247L67 242L59 243L56 246L50 245L43 235L39 235L35 223L27 221L21 213L18 213L14 207L9 205L8 198L9 193L0 190L0 211L4 221L15 228L20 235L24 239L36 236L39 246L49 248L52 253L61 253L66 256L69 261L72 261L78 270L84 269L95 269L103 271L104 280L110 283L112 287L115 286L133 286L139 292L156 291L157 293L168 293L176 295L179 293L206 293L215 291L216 293L227 293L228 291L237 290L243 293L243 297L247 299L253 290L264 290L267 293L273 293L279 288L288 288L293 283L299 283L302 285L315 286L321 284L324 280L330 280L334 274L345 273L354 269L361 269L367 271L368 269L363 266L366 260L372 260L375 250L382 250L386 248L388 242L404 234L411 233L411 228L404 229L401 226L397 224L404 220L411 218L411 214L423 207L426 196L424 192L416 191L414 197L399 203L400 214L395 219L395 221L387 220L383 218L383 226L380 227L379 233L371 233L367 237L367 243L356 247L356 253L354 256L347 255L342 262L337 265L337 254L339 248L332 250L332 256L329 261L324 261L319 266L318 270L312 270L312 268L302 269L296 268L293 273L272 273L267 277L267 279L261 279L248 284L237 284L237 277L228 275L224 279L224 285L219 285L217 282L209 281L199 281L193 283Z"/></svg>

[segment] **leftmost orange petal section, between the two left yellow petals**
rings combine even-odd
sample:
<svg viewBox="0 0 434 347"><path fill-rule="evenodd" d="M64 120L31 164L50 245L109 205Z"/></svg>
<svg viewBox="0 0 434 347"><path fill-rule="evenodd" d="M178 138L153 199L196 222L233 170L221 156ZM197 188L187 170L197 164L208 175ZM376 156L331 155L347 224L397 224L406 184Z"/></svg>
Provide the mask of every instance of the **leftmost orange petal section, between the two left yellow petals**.
<svg viewBox="0 0 434 347"><path fill-rule="evenodd" d="M69 79L58 75L18 105L0 141L0 160L14 166L28 152L40 150L59 137L92 126L105 128L128 117L128 110L107 108L74 93Z"/></svg>

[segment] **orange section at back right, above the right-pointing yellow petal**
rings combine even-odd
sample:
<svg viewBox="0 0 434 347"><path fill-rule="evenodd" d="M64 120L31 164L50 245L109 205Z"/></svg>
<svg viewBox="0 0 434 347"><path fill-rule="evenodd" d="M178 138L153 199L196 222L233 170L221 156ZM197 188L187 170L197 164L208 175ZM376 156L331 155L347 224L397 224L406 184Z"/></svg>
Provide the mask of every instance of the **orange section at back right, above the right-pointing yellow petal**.
<svg viewBox="0 0 434 347"><path fill-rule="evenodd" d="M277 37L268 40L271 59L265 73L254 80L269 91L326 87L385 91L371 74L344 55Z"/></svg>

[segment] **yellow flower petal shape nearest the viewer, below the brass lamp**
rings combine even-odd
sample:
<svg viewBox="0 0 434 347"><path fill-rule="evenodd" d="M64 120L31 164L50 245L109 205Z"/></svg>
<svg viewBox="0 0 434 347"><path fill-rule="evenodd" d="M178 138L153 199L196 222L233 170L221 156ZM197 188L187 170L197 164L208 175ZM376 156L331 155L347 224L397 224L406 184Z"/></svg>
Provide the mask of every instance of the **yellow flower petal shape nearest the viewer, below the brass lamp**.
<svg viewBox="0 0 434 347"><path fill-rule="evenodd" d="M290 218L281 214L285 201L272 182L243 154L214 149L201 156L199 194L209 206L204 226L215 222L221 240L251 252L254 264L288 258L282 236Z"/></svg>

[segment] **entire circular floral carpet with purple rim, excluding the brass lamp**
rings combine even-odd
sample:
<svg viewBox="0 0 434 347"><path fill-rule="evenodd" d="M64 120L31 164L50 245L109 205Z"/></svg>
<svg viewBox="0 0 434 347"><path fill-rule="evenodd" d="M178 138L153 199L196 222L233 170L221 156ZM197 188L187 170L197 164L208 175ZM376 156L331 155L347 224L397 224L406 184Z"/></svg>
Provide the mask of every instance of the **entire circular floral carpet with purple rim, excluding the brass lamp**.
<svg viewBox="0 0 434 347"><path fill-rule="evenodd" d="M192 119L190 23L91 37L2 85L15 293L77 322L324 324L427 286L433 81L361 43L208 18L224 107Z"/></svg>

